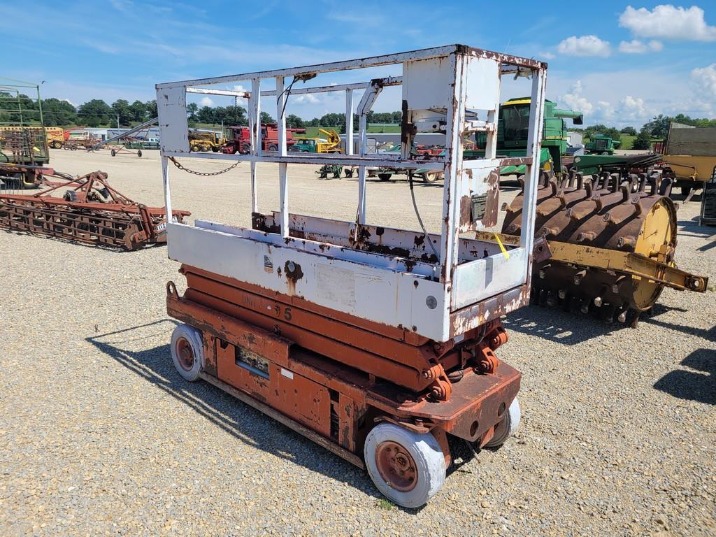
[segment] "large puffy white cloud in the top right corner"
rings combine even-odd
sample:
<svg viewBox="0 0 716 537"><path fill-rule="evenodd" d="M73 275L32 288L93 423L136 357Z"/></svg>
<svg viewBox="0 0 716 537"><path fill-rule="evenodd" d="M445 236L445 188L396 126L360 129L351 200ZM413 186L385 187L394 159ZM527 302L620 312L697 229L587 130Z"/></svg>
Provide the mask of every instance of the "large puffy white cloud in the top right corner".
<svg viewBox="0 0 716 537"><path fill-rule="evenodd" d="M716 41L716 26L704 20L699 6L686 9L671 4L656 6L652 11L627 6L619 16L619 26L632 30L641 37L683 39L684 41Z"/></svg>

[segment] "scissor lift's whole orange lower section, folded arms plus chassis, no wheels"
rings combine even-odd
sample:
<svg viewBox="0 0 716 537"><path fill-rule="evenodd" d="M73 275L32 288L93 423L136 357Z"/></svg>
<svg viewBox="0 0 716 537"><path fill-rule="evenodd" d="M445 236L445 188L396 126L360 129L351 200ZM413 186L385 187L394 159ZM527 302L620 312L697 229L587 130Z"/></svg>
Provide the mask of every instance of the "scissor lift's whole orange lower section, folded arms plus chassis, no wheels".
<svg viewBox="0 0 716 537"><path fill-rule="evenodd" d="M364 439L388 420L483 446L521 374L494 354L500 321L445 343L183 265L167 311L203 334L201 376L362 467ZM458 380L446 371L462 369Z"/></svg>

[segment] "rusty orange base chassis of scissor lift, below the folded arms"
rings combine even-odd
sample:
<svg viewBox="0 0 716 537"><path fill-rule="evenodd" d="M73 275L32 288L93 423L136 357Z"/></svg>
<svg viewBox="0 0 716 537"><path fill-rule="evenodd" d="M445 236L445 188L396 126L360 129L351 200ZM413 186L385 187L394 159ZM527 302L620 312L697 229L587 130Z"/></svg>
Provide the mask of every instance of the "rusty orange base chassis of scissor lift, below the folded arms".
<svg viewBox="0 0 716 537"><path fill-rule="evenodd" d="M407 390L299 347L281 335L279 324L270 331L241 319L256 310L191 287L180 297L173 282L167 290L168 314L202 334L201 378L361 468L365 437L380 421L432 432L449 464L445 433L482 447L519 391L521 374L496 362L489 374L465 368L459 382L451 384L449 400L438 400L430 390ZM279 311L284 321L294 314L300 318L290 299L276 296L263 316L273 321ZM311 328L296 327L302 332Z"/></svg>

